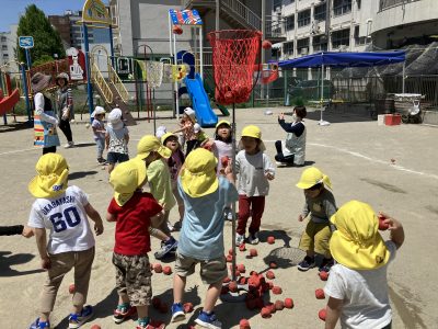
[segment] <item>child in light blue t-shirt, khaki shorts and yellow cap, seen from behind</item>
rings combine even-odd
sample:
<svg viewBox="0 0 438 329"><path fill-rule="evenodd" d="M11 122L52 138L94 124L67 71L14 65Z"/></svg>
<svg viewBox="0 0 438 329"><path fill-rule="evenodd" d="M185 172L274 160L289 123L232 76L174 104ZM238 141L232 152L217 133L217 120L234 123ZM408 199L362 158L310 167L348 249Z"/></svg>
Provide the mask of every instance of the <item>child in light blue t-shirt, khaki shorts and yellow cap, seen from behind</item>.
<svg viewBox="0 0 438 329"><path fill-rule="evenodd" d="M228 275L223 256L223 209L238 200L238 191L224 177L216 175L217 159L203 148L185 159L178 191L185 213L176 251L173 277L172 322L185 319L183 298L187 276L200 264L200 277L208 284L204 308L195 320L204 328L220 329L214 307Z"/></svg>

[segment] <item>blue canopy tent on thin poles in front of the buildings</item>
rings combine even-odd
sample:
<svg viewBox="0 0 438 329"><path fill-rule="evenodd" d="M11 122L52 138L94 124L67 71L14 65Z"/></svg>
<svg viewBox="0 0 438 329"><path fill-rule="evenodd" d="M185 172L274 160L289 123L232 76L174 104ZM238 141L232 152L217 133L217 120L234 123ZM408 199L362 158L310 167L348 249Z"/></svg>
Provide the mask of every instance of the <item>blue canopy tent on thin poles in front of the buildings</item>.
<svg viewBox="0 0 438 329"><path fill-rule="evenodd" d="M316 53L295 59L283 60L278 63L280 68L313 68L321 67L321 95L323 95L324 67L369 67L389 65L405 61L406 55L404 50L381 52L381 53ZM404 66L403 66L403 92L404 92ZM327 125L327 122L321 120L320 125Z"/></svg>

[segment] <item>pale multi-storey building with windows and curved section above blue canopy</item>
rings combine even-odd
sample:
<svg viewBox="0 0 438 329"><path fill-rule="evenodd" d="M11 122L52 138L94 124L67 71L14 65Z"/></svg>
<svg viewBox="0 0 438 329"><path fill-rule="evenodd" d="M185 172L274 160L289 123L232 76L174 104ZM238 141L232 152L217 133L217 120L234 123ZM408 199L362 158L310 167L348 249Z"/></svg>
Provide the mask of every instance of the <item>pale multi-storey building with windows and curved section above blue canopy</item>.
<svg viewBox="0 0 438 329"><path fill-rule="evenodd" d="M436 0L274 0L273 13L285 18L279 59L394 49L438 35Z"/></svg>

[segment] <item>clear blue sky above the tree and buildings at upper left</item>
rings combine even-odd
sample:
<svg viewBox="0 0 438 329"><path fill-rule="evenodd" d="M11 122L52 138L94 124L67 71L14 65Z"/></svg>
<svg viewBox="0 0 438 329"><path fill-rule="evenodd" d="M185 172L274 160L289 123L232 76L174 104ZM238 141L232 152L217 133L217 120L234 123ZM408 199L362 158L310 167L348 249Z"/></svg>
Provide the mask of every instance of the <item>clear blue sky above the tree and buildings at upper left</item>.
<svg viewBox="0 0 438 329"><path fill-rule="evenodd" d="M28 4L36 4L46 15L62 15L65 10L81 10L85 0L0 0L0 32L10 31L9 25L19 24ZM108 1L103 1L107 4Z"/></svg>

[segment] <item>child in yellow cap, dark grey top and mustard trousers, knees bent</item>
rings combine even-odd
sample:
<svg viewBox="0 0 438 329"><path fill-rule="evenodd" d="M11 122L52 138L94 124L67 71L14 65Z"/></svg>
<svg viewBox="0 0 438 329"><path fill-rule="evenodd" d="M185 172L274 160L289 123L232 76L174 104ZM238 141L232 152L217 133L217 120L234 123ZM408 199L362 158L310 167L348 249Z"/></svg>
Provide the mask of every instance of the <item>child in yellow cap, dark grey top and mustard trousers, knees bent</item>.
<svg viewBox="0 0 438 329"><path fill-rule="evenodd" d="M332 230L330 217L336 213L336 202L332 192L332 183L327 175L315 167L306 169L297 184L304 190L306 203L298 220L309 216L309 223L302 232L299 248L306 251L304 259L297 265L300 271L308 271L315 265L320 271L330 271L333 259L328 249Z"/></svg>

